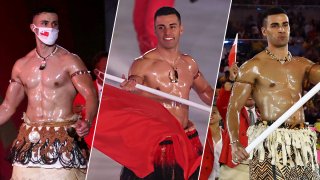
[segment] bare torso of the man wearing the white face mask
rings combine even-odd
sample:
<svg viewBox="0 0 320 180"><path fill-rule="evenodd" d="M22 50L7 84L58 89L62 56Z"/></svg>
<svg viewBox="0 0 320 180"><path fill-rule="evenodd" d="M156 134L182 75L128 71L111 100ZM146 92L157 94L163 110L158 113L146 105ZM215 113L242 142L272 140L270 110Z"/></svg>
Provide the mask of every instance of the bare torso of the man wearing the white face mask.
<svg viewBox="0 0 320 180"><path fill-rule="evenodd" d="M67 52L58 49L49 57L46 68L39 70L41 60L34 50L18 62L18 78L28 97L27 116L31 120L55 120L72 116L76 90L68 72Z"/></svg>

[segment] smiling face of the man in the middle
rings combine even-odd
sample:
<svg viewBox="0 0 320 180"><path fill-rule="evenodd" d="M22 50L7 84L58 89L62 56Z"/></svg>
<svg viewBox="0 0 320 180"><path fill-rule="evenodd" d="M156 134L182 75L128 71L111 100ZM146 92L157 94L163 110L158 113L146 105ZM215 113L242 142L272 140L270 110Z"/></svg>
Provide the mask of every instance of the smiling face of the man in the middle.
<svg viewBox="0 0 320 180"><path fill-rule="evenodd" d="M165 49L176 48L183 27L175 14L158 16L155 20L155 33L158 45Z"/></svg>

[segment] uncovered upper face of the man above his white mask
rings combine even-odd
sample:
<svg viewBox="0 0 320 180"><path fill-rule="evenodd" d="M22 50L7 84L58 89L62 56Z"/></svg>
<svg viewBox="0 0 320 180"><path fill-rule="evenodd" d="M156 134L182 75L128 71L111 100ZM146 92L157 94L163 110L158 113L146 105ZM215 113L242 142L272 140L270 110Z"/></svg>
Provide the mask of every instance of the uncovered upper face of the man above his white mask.
<svg viewBox="0 0 320 180"><path fill-rule="evenodd" d="M33 18L33 24L37 27L55 28L59 29L58 15L56 13L40 13ZM33 26L30 26L31 30ZM35 29L37 31L37 29Z"/></svg>

